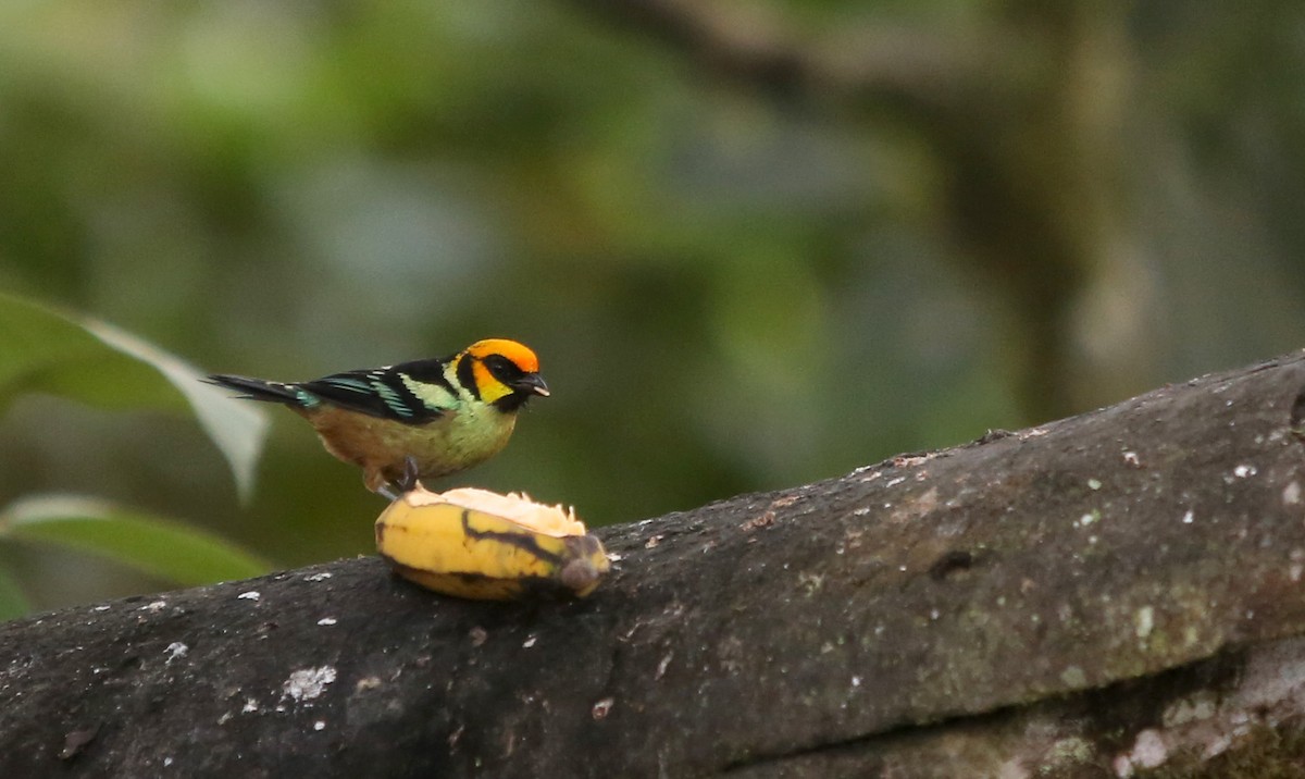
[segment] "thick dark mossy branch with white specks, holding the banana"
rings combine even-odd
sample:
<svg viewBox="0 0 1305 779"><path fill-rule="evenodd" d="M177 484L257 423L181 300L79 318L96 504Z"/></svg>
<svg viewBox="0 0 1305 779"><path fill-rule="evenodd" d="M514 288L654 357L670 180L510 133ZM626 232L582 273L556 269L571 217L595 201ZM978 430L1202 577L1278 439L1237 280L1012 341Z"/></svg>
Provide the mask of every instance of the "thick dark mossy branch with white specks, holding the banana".
<svg viewBox="0 0 1305 779"><path fill-rule="evenodd" d="M0 775L1289 757L1302 388L1292 355L608 528L620 561L583 602L458 602L369 557L12 622Z"/></svg>

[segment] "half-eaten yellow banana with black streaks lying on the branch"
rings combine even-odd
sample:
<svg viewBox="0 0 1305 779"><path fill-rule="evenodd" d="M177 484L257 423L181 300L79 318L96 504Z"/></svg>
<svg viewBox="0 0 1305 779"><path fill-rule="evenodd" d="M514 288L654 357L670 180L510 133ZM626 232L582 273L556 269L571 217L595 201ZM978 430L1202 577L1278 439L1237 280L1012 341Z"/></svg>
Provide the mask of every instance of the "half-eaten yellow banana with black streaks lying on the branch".
<svg viewBox="0 0 1305 779"><path fill-rule="evenodd" d="M398 575L474 600L583 598L611 569L574 509L472 487L416 484L376 519L376 548Z"/></svg>

